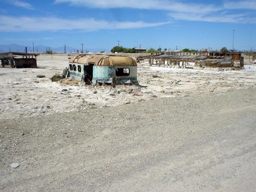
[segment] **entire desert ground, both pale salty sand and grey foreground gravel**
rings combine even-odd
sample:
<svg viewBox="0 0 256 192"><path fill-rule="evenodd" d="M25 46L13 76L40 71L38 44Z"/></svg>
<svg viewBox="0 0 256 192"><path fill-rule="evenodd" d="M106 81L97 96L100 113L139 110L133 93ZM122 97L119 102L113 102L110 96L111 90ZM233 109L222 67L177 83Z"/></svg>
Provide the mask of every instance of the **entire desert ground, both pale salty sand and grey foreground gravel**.
<svg viewBox="0 0 256 192"><path fill-rule="evenodd" d="M37 65L0 68L0 191L255 191L248 58L238 71L144 62L139 86L115 88L52 82L67 54Z"/></svg>

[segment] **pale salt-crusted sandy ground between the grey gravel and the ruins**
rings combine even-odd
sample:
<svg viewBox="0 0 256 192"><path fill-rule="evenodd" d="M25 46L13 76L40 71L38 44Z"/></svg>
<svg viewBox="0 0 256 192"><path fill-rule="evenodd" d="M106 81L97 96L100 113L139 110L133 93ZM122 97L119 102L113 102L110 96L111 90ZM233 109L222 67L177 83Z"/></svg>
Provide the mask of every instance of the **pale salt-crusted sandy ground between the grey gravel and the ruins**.
<svg viewBox="0 0 256 192"><path fill-rule="evenodd" d="M0 68L0 119L17 116L49 115L72 110L113 107L155 97L182 97L203 92L225 92L256 84L256 66L245 65L240 71L208 71L138 66L140 86L93 87L62 85L51 82L54 74L68 67L68 55L40 55L36 69ZM246 61L245 61L246 63ZM45 75L37 78L36 75ZM157 76L153 78L152 76ZM70 90L70 96L60 92ZM94 91L98 93L93 94ZM134 92L142 92L135 96Z"/></svg>

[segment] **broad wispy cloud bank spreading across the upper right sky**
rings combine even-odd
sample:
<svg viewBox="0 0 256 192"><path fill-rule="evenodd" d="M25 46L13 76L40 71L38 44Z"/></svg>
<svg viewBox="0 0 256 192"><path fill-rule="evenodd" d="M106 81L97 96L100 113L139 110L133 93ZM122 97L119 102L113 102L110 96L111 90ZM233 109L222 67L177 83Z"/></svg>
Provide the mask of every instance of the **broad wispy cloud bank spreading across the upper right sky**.
<svg viewBox="0 0 256 192"><path fill-rule="evenodd" d="M182 0L55 0L55 3L68 3L72 6L84 6L100 9L131 8L163 10L175 20L256 23L244 10L256 10L255 0L224 0L222 4L185 3ZM243 10L243 14L234 13L234 9Z"/></svg>

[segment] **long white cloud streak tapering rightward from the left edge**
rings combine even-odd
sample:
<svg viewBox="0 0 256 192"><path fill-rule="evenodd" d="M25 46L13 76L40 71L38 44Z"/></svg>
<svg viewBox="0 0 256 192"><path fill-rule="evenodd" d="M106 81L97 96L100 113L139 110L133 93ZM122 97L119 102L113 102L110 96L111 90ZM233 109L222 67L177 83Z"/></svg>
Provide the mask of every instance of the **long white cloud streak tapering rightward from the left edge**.
<svg viewBox="0 0 256 192"><path fill-rule="evenodd" d="M91 19L60 19L56 17L0 16L0 31L93 31L98 29L129 29L156 27L169 22L147 23L143 21L106 21Z"/></svg>

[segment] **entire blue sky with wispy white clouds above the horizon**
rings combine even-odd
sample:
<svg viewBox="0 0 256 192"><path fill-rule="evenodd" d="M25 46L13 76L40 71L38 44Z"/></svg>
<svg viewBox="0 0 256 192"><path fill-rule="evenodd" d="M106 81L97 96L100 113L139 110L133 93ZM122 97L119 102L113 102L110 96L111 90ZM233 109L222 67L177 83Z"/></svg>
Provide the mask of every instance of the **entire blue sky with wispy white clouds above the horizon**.
<svg viewBox="0 0 256 192"><path fill-rule="evenodd" d="M256 50L255 0L0 0L0 44Z"/></svg>

